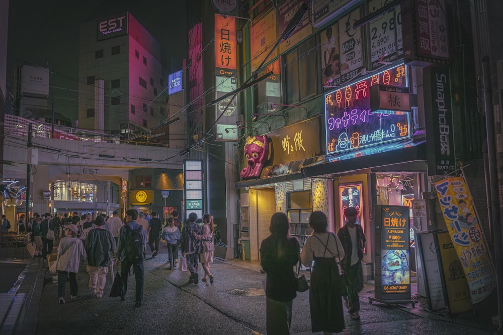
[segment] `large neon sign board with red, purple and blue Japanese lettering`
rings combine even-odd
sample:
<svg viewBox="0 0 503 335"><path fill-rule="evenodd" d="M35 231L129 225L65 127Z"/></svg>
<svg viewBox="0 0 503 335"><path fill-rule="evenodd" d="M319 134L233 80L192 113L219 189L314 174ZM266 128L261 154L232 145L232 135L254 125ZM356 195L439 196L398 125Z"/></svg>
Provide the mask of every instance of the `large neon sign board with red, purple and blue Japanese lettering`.
<svg viewBox="0 0 503 335"><path fill-rule="evenodd" d="M407 67L399 65L325 94L327 154L406 139L410 113L372 113L370 87L375 84L406 86Z"/></svg>

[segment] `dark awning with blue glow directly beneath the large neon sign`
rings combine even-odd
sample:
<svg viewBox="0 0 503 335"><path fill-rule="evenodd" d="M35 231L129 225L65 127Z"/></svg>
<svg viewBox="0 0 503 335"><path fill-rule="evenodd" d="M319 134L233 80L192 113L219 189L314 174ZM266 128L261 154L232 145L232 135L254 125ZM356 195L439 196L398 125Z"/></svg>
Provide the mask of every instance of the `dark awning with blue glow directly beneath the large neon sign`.
<svg viewBox="0 0 503 335"><path fill-rule="evenodd" d="M325 155L323 161L303 167L302 176L316 177L413 161L426 161L426 140L394 142L346 154Z"/></svg>

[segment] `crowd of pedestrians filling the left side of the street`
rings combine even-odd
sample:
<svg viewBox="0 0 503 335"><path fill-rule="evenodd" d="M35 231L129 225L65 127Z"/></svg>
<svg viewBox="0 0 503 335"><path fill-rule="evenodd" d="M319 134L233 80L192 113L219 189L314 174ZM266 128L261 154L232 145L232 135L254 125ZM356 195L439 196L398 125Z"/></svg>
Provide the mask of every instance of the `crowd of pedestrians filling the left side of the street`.
<svg viewBox="0 0 503 335"><path fill-rule="evenodd" d="M133 268L135 277L135 305L143 302L144 268L143 261L146 250L150 248L151 257L159 252L160 240L164 240L168 251L168 269L176 269L179 263L179 249L187 262L191 277L190 283L197 284L199 277L197 265L202 263L204 277L201 281L214 277L210 272L213 262L213 216L204 214L200 226L196 223L197 214L191 213L182 229L178 218L180 213L173 211L172 216L163 225L157 213L138 212L129 209L124 219L118 216L116 210L111 217L99 214L93 219L91 213L81 216L77 212L72 215L54 215L34 213L32 223L27 225L31 232L31 241L36 245L34 257L48 259L54 243L57 244L56 271L58 278L58 301L65 303L66 283L70 284L70 297L78 296L76 274L79 265L87 262L86 271L89 274L89 290L97 298L104 296L107 276L114 280L114 263L120 264L122 280L121 300L125 300L128 277ZM6 225L7 226L7 225Z"/></svg>

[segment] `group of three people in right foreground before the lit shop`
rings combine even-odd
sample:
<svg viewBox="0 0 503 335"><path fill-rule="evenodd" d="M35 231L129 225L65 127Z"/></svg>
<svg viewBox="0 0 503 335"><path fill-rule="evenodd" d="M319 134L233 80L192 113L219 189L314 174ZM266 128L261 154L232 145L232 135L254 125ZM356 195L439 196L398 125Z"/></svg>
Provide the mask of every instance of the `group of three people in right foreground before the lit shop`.
<svg viewBox="0 0 503 335"><path fill-rule="evenodd" d="M271 217L271 235L260 247L261 265L266 278L266 328L268 334L289 334L293 299L297 296L297 275L294 267L302 263L311 268L309 307L311 330L323 334L341 332L345 328L343 297L348 313L360 319L358 293L363 289L361 261L365 235L356 225L358 210L345 208L346 224L338 235L328 232L328 220L321 211L309 216L312 235L299 252L299 241L290 237L285 213ZM299 263L300 262L300 263ZM346 276L346 282L343 281Z"/></svg>

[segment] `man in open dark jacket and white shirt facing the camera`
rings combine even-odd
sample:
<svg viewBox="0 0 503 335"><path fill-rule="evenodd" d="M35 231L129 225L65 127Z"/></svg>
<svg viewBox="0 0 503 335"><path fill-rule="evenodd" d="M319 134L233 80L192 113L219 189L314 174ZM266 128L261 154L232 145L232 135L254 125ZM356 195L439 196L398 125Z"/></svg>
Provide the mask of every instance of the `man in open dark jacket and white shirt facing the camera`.
<svg viewBox="0 0 503 335"><path fill-rule="evenodd" d="M355 207L345 208L346 225L337 234L346 254L342 265L348 280L349 314L354 320L360 319L358 293L363 289L362 259L365 243L367 242L362 226L355 225L358 215L359 211Z"/></svg>

